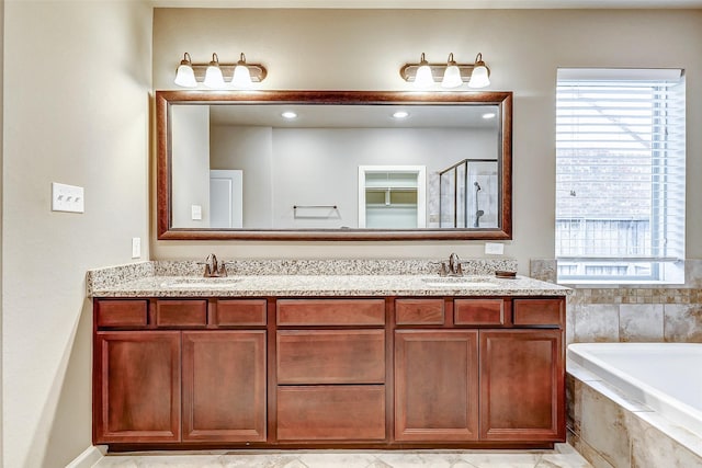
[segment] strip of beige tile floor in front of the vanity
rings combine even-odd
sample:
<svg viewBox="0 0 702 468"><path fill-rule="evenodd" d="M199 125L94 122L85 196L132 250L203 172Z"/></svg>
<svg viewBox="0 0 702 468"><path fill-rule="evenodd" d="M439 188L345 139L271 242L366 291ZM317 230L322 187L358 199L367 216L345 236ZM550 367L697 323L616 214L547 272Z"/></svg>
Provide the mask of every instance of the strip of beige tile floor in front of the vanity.
<svg viewBox="0 0 702 468"><path fill-rule="evenodd" d="M568 444L553 450L299 450L109 454L94 468L590 468Z"/></svg>

